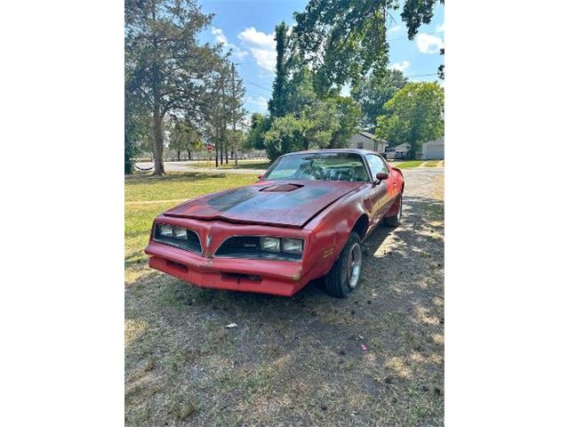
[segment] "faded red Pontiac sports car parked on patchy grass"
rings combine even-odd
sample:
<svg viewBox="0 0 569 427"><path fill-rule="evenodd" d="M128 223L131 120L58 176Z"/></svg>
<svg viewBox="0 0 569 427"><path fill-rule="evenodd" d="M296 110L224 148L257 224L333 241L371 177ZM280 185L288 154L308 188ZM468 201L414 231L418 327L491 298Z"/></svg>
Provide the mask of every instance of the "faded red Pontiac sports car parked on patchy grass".
<svg viewBox="0 0 569 427"><path fill-rule="evenodd" d="M359 285L362 241L401 220L403 173L364 149L286 154L251 185L158 215L150 267L197 286L291 296L325 276L345 298Z"/></svg>

